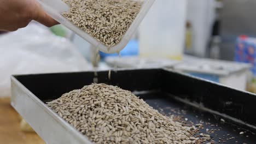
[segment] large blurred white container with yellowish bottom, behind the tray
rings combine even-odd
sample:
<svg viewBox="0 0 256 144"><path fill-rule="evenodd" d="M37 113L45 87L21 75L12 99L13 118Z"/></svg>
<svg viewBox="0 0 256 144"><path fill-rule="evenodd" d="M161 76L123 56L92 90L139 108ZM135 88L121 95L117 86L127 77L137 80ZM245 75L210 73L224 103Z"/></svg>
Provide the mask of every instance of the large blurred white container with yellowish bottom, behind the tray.
<svg viewBox="0 0 256 144"><path fill-rule="evenodd" d="M139 27L139 55L182 59L187 0L155 1Z"/></svg>

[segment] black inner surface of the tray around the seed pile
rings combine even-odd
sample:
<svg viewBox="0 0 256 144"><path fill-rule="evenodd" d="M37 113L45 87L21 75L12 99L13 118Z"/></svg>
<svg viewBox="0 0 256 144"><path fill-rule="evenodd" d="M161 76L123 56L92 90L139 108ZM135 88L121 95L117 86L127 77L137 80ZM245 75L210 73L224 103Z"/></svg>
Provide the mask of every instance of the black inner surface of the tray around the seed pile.
<svg viewBox="0 0 256 144"><path fill-rule="evenodd" d="M90 85L94 82L95 74L94 71L88 71L14 77L45 102L57 99L73 89ZM256 97L252 93L164 69L112 71L110 80L108 71L98 71L97 78L98 83L107 83L135 92L138 97L167 116L178 116L181 121L187 119L187 123L201 123L202 133L206 133L206 129L216 130L210 134L216 143L256 143ZM223 113L246 124L197 109L175 98L201 104L207 109ZM241 135L241 131L244 134ZM234 139L226 140L231 137Z"/></svg>

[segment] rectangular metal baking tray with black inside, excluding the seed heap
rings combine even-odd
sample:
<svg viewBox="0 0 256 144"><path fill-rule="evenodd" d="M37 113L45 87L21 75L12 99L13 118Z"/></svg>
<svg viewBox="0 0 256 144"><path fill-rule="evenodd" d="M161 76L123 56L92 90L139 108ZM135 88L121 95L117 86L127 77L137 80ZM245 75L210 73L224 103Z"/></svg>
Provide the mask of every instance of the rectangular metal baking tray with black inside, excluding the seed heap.
<svg viewBox="0 0 256 144"><path fill-rule="evenodd" d="M256 97L252 93L166 69L98 71L98 82L117 85L166 115L201 123L216 143L256 142ZM63 93L90 85L94 71L14 75L11 105L46 143L91 143L45 105ZM244 134L240 134L243 131ZM231 140L230 137L234 137Z"/></svg>

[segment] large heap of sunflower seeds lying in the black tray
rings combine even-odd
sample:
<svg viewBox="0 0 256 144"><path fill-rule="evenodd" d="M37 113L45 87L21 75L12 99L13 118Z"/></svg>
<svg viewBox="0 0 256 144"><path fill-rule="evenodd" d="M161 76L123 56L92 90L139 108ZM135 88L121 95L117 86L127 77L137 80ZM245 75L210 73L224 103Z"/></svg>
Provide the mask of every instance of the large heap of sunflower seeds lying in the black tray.
<svg viewBox="0 0 256 144"><path fill-rule="evenodd" d="M196 143L186 127L154 110L130 91L92 84L47 105L95 143Z"/></svg>

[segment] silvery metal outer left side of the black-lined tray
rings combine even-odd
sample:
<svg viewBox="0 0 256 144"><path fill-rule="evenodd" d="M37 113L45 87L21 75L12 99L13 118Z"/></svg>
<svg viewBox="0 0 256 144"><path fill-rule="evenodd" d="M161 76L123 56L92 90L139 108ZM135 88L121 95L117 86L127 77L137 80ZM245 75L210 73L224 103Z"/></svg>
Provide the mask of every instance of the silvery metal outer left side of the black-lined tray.
<svg viewBox="0 0 256 144"><path fill-rule="evenodd" d="M16 103L17 100L23 101L23 103L19 102L19 104L23 105ZM40 101L36 95L31 93L14 76L11 76L11 106L14 107L46 143L56 143L56 139L52 139L53 137L57 138L56 136L58 136L58 140L62 140L61 143L92 143L86 136L80 134L64 119L50 110L49 107ZM36 113L40 113L40 115L44 115L45 117L42 118L34 115ZM37 124L34 122L37 122ZM44 129L53 130L57 133L45 133ZM54 134L54 136L51 134Z"/></svg>

